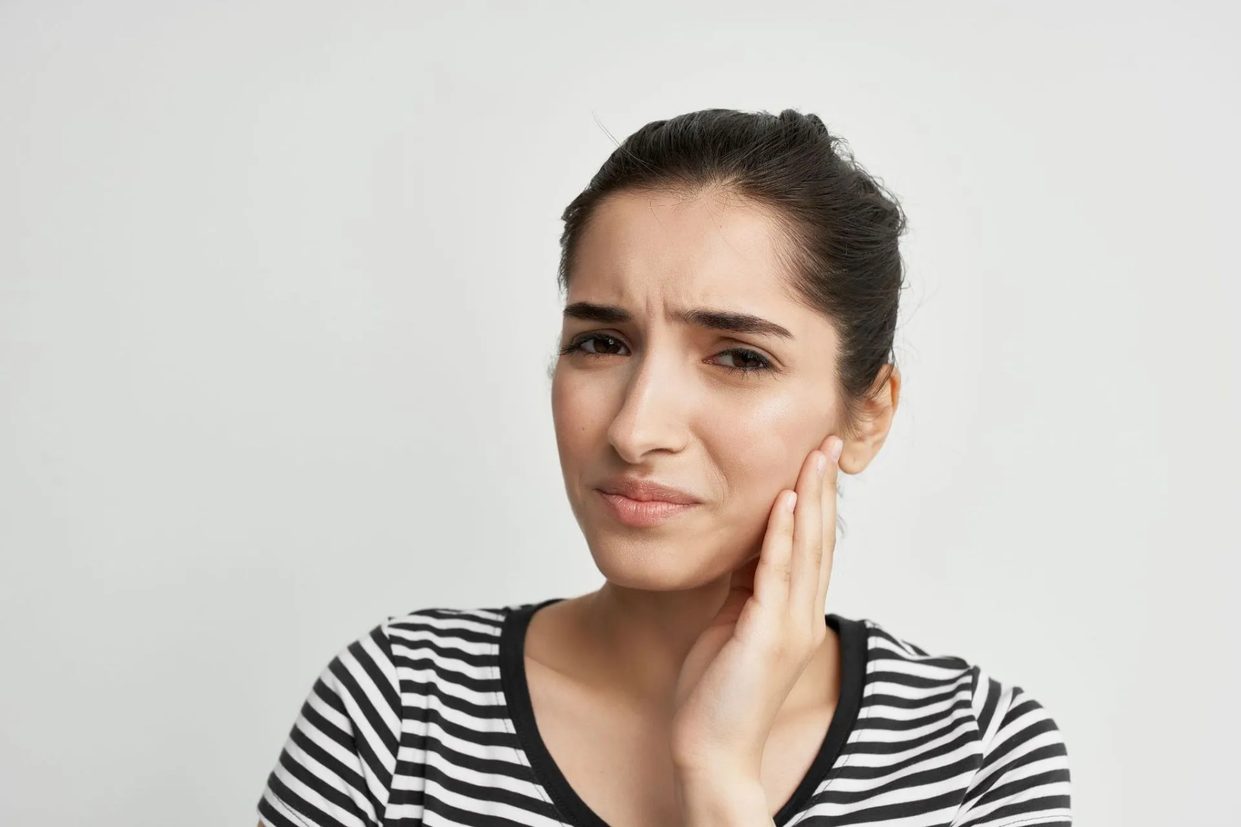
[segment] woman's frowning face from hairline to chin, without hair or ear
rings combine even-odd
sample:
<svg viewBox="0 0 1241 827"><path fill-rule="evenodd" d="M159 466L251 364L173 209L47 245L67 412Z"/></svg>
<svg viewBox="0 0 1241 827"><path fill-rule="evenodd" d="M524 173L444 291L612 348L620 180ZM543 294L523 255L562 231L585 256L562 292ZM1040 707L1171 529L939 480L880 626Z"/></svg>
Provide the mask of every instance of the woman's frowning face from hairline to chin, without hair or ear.
<svg viewBox="0 0 1241 827"><path fill-rule="evenodd" d="M617 585L690 589L757 555L776 496L833 433L838 338L786 285L778 238L721 193L618 193L581 239L552 418L573 515ZM598 490L617 477L697 502L635 526Z"/></svg>

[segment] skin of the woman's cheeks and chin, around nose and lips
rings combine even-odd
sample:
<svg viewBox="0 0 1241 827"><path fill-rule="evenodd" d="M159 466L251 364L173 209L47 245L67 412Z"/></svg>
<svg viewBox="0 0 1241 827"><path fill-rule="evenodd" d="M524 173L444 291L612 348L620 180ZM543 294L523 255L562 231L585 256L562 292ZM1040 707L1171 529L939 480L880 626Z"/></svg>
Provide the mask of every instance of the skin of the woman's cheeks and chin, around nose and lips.
<svg viewBox="0 0 1241 827"><path fill-rule="evenodd" d="M673 481L694 485L710 502L666 526L629 528L592 501L598 495L589 486L622 470L607 435L619 403L602 373L558 369L552 415L565 489L599 572L633 589L691 589L756 557L776 495L795 486L805 455L828 433L823 400L809 391L700 388L688 403L699 467L685 476L688 458L666 456L656 472L675 467L681 476Z"/></svg>

